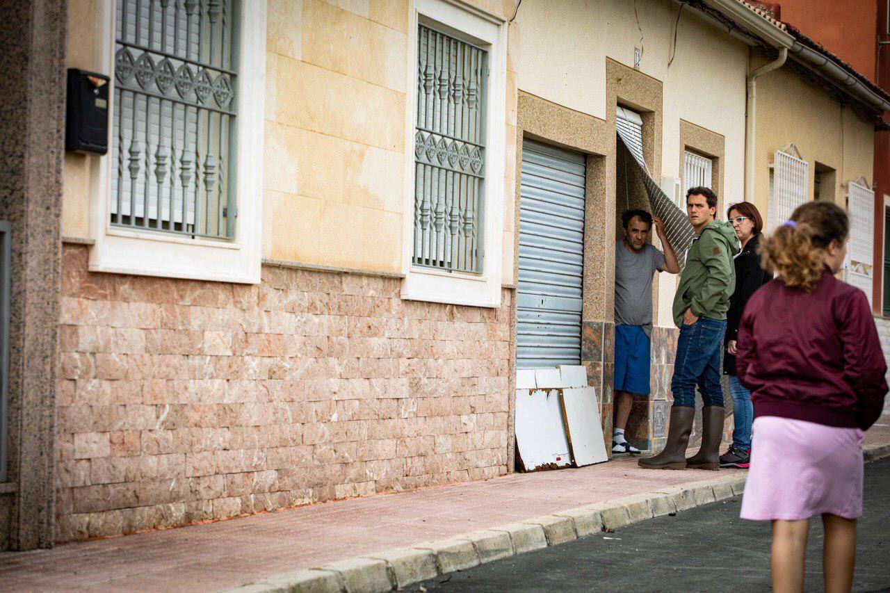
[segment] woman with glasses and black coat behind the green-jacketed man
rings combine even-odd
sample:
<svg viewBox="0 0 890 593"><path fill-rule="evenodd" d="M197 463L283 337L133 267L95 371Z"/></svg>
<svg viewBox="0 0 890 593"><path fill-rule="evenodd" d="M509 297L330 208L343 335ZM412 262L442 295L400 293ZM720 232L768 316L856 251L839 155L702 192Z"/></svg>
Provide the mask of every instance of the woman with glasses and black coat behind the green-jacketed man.
<svg viewBox="0 0 890 593"><path fill-rule="evenodd" d="M741 386L735 372L736 338L739 335L741 313L745 311L748 299L757 288L773 280L773 275L760 266L760 244L764 220L757 208L750 202L733 204L726 212L736 236L741 243L741 251L735 256L735 292L726 312L726 337L724 338L724 374L729 375L729 390L732 394L732 445L729 451L720 456L720 467L740 467L750 465L751 423L754 421L754 408L751 393Z"/></svg>

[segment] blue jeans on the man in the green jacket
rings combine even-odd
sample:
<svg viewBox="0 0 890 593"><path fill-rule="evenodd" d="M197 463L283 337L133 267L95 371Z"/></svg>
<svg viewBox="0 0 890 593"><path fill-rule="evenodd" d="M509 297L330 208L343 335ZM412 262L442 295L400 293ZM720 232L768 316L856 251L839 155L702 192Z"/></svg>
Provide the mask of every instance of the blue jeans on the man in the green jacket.
<svg viewBox="0 0 890 593"><path fill-rule="evenodd" d="M699 386L706 406L723 406L720 387L720 353L726 333L726 320L702 317L680 328L676 341L674 378L670 390L674 405L695 407L695 386Z"/></svg>

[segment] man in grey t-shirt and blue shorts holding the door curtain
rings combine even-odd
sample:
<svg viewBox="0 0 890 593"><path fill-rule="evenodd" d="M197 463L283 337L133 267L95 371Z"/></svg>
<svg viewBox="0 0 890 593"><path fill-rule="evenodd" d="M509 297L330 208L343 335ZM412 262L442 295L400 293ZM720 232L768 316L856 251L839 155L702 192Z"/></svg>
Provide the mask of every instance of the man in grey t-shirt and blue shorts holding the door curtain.
<svg viewBox="0 0 890 593"><path fill-rule="evenodd" d="M632 394L649 394L652 276L680 272L664 223L645 210L621 215L624 236L615 242L615 427L613 453L639 453L627 443L624 430ZM652 223L665 252L646 243Z"/></svg>

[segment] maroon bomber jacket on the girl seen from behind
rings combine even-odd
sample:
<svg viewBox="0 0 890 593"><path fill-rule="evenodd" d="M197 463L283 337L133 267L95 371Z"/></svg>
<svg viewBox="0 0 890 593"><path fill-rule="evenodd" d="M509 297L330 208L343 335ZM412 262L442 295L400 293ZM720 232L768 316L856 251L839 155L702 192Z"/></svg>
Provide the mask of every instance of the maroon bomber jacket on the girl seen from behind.
<svg viewBox="0 0 890 593"><path fill-rule="evenodd" d="M754 416L865 430L881 414L887 366L869 302L828 267L812 293L772 280L741 316L736 370Z"/></svg>

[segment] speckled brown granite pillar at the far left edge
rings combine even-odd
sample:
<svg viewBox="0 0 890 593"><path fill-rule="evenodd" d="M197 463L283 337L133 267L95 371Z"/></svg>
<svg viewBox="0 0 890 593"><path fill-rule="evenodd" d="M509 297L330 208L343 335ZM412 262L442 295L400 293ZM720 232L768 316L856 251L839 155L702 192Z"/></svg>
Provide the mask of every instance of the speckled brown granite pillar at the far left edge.
<svg viewBox="0 0 890 593"><path fill-rule="evenodd" d="M0 219L12 223L8 481L0 548L53 544L53 421L67 3L4 0Z"/></svg>

